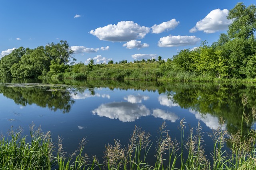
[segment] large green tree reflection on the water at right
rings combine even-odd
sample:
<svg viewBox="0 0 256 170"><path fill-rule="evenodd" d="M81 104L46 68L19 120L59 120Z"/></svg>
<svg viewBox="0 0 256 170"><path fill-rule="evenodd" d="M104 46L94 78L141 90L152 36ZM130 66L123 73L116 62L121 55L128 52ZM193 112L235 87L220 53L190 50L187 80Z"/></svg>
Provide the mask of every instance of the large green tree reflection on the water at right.
<svg viewBox="0 0 256 170"><path fill-rule="evenodd" d="M226 128L236 133L243 126L243 133L247 133L247 124L241 124L242 95L248 96L246 113L250 114L249 125L252 125L252 107L256 105L256 87L245 85L205 85L205 84L172 84L166 90L167 96L182 108L192 109L200 114L211 114L223 117Z"/></svg>

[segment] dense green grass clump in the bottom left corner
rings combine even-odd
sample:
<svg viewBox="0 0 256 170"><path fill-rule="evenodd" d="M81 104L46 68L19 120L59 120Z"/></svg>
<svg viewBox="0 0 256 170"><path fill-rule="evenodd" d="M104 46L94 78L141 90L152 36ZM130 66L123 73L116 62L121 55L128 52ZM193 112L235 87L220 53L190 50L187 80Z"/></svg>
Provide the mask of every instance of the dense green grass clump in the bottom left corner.
<svg viewBox="0 0 256 170"><path fill-rule="evenodd" d="M51 169L56 160L53 155L53 143L50 132L42 133L41 129L30 127L30 141L22 137L21 129L10 131L11 139L0 140L0 166L9 170Z"/></svg>

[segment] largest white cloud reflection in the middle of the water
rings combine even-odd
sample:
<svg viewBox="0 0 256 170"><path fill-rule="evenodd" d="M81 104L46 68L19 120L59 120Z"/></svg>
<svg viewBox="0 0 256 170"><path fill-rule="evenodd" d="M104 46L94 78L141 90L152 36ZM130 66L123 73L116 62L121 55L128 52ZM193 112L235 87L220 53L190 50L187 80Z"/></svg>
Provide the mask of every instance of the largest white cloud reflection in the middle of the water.
<svg viewBox="0 0 256 170"><path fill-rule="evenodd" d="M122 122L131 122L142 116L150 115L150 110L144 105L133 104L130 102L116 102L101 104L92 111L93 114L119 119Z"/></svg>

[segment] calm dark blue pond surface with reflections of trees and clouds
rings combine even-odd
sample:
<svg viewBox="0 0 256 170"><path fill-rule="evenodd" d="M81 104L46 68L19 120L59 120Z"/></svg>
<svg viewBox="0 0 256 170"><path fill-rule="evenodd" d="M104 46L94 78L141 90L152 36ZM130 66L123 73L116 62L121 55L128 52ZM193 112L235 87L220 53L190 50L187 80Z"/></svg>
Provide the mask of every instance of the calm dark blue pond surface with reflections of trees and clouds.
<svg viewBox="0 0 256 170"><path fill-rule="evenodd" d="M242 95L250 120L241 124ZM158 129L165 121L172 139L180 141L178 125L185 119L185 140L191 127L204 131L207 155L213 148L208 136L225 121L223 129L236 133L254 128L252 107L256 86L242 84L161 83L139 81L0 80L0 131L21 126L29 135L29 125L51 131L52 141L62 137L64 150L71 154L86 138L85 152L103 161L105 145L114 139L127 146L136 126L150 132L156 143ZM154 159L155 147L148 157ZM151 160L149 160L150 162ZM152 161L153 162L153 161Z"/></svg>

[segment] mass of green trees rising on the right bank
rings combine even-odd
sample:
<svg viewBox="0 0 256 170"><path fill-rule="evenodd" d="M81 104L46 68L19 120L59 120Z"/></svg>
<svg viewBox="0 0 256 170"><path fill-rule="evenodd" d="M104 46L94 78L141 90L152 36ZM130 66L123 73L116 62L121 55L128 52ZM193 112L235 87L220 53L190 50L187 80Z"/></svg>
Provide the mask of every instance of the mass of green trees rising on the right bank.
<svg viewBox="0 0 256 170"><path fill-rule="evenodd" d="M176 70L209 74L218 78L254 78L256 7L238 3L230 10L227 34L212 46L206 41L195 50L184 49L173 57Z"/></svg>

